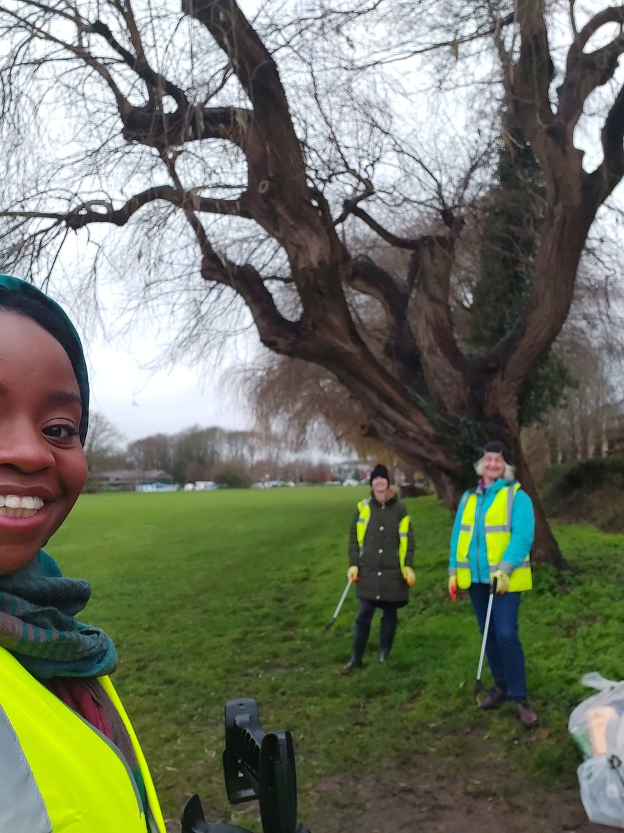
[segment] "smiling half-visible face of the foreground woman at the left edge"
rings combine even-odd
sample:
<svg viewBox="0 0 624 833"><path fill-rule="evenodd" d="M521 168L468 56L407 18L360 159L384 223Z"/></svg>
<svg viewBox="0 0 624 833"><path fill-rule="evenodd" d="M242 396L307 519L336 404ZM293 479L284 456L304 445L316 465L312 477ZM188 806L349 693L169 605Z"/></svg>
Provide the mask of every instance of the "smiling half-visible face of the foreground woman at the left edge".
<svg viewBox="0 0 624 833"><path fill-rule="evenodd" d="M61 345L0 307L0 575L26 566L87 480L80 390Z"/></svg>

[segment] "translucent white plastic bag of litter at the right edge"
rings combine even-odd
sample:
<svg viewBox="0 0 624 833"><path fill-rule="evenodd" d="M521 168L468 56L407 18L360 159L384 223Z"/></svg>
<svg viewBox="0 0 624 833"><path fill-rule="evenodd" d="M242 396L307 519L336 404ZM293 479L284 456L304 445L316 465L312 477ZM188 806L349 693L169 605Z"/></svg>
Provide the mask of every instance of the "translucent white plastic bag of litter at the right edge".
<svg viewBox="0 0 624 833"><path fill-rule="evenodd" d="M624 828L624 681L594 672L582 684L598 690L567 724L587 758L577 769L582 805L590 821Z"/></svg>

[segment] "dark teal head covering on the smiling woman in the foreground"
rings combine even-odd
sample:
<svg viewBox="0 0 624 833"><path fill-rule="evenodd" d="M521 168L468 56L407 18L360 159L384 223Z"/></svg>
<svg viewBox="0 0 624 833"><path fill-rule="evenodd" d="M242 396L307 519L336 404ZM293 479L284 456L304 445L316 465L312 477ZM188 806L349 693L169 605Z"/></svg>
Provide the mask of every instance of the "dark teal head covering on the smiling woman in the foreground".
<svg viewBox="0 0 624 833"><path fill-rule="evenodd" d="M20 315L32 318L40 327L50 333L67 353L76 374L82 399L82 416L79 436L82 445L87 438L89 425L89 379L87 363L82 352L82 343L66 312L52 301L45 292L32 283L21 281L11 275L0 275L0 307L14 310Z"/></svg>

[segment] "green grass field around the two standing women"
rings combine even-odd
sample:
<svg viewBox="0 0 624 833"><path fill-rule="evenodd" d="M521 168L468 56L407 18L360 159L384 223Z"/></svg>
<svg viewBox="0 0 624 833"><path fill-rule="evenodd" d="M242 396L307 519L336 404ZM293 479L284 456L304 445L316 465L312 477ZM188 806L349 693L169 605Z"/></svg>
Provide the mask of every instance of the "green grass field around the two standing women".
<svg viewBox="0 0 624 833"><path fill-rule="evenodd" d="M255 697L265 729L290 729L306 785L367 773L418 753L453 755L483 726L473 701L480 638L468 601L446 596L451 519L433 498L407 501L417 583L399 613L392 661L351 677L354 595L329 634L344 589L346 542L359 488L86 495L47 549L68 576L92 582L83 621L116 641L115 675L151 763L166 816L199 792L215 821L230 816L223 787L223 706ZM523 779L569 782L579 758L567 736L589 694L586 671L621 679L624 538L557 527L578 572L560 586L540 570L521 609L532 742L510 711L488 715L493 754ZM526 785L525 785L526 786ZM249 821L245 821L244 826Z"/></svg>

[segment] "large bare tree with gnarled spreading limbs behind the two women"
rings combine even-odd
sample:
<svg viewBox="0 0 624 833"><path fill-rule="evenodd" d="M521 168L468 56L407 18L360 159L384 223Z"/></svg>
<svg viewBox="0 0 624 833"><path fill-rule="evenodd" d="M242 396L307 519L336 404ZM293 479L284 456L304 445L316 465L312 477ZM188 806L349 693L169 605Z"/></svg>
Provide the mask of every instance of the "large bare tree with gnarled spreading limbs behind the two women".
<svg viewBox="0 0 624 833"><path fill-rule="evenodd" d="M4 147L9 160L22 153L22 162L10 162L3 176L5 263L23 268L25 258L34 262L47 252L53 265L68 230L90 229L100 245L97 227L127 224L132 247L124 258L157 249L161 272L160 277L151 273L150 291L157 285L173 292L174 276L189 269L167 257L171 252L162 248L160 238L167 223L177 222L182 234L177 219L182 217L192 233L195 272L206 282L210 298L235 293L250 310L266 347L331 372L362 407L366 431L405 460L437 471L449 504L456 499L463 464L486 436L513 445L519 477L536 497L518 443L518 393L566 320L590 227L624 174L624 90L614 80L624 51L624 10L614 3L577 20L574 0L429 0L397 2L392 9L384 29L387 49L380 49L373 37L374 15L384 12L383 2L354 4L350 12L344 4L335 10L330 2L312 4L288 25L271 25L270 17L252 25L234 0L181 0L179 11L166 0L2 2ZM426 12L426 27L438 32L438 42L424 43L410 34ZM414 216L411 227L425 232L404 236L397 230L406 227L409 199L403 200L394 223L392 195L374 199L376 192L387 190L383 164L378 166L379 183L372 179L374 162L384 162L383 150L372 144L362 152L356 148L366 113L354 125L351 152L344 151L334 130L339 115L329 100L329 86L318 83L310 56L314 48L323 51L325 35L344 33L349 21L358 18L365 18L367 39L354 46L347 38L344 48L352 52L345 77L350 69L364 72L376 62L433 54L434 47L457 59L478 42L478 50L469 53L472 65L463 66L463 72L477 76L483 67L476 56L493 45L499 104L512 115L542 168L547 207L532 262L532 290L511 331L487 351L462 351L449 308L454 253L463 228L460 201L445 193L445 183L430 172L443 222L423 225ZM447 19L444 29L440 21ZM166 20L172 20L168 28ZM306 37L314 42L307 52L296 46L305 44ZM310 69L317 107L314 141L313 127L306 127L295 101L295 84L290 107L285 92L285 72L295 52L303 61L298 72L301 66ZM334 77L334 87L343 82ZM575 147L575 128L590 97L593 109L602 112L602 152L586 167ZM25 128L28 117L31 127L34 122L42 128L38 139ZM61 135L62 152L50 149L46 122L53 122ZM212 147L220 156L204 164ZM131 153L124 154L124 148ZM104 152L108 161L100 165ZM51 153L53 166L66 172L62 187L29 167L29 154L41 159ZM324 155L339 160L341 178L324 174ZM81 168L76 167L78 158ZM108 190L102 186L111 159L118 182L114 193L110 184ZM220 179L226 164L228 175ZM354 182L339 205L331 187L338 179ZM134 183L139 183L136 192L128 193ZM453 194L460 191L455 187ZM418 202L414 194L411 204ZM139 216L149 218L149 233L135 222ZM219 217L260 230L268 241L264 261L257 252L247 254L244 237L235 247L227 245ZM409 252L403 275L359 257L342 232L354 222ZM284 287L288 302L280 300ZM352 312L359 293L384 309L383 357L375 357ZM538 503L537 551L560 561Z"/></svg>

